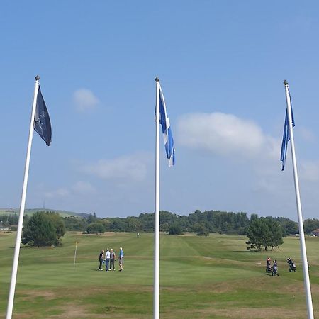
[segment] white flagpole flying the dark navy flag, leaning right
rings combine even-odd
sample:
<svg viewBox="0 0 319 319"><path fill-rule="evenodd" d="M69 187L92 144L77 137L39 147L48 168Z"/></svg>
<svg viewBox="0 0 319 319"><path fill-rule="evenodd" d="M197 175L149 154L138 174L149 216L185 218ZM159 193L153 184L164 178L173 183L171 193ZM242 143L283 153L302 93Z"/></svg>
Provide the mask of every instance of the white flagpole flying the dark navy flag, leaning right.
<svg viewBox="0 0 319 319"><path fill-rule="evenodd" d="M20 214L19 214L19 220L18 220L18 229L17 229L17 232L16 232L16 247L14 249L14 257L13 257L13 266L12 266L12 273L11 273L11 284L10 284L8 308L6 310L6 319L11 319L12 318L14 292L16 290L16 276L17 276L17 273L18 273L18 261L19 261L19 254L20 254L20 243L21 243L21 235L22 235L23 214L24 214L24 207L26 205L26 191L27 191L27 186L28 186L28 174L29 174L29 166L30 166L30 155L31 155L31 146L32 146L32 138L33 138L35 107L36 107L36 104L37 104L37 96L38 96L38 88L39 88L39 79L40 79L40 77L37 75L35 77L35 89L34 89L34 97L33 97L33 106L32 106L32 111L31 111L30 131L29 131L29 139L28 139L28 150L27 150L27 155L26 155L26 167L25 167L25 170L24 170L23 187L22 187L22 195L21 195L21 205L20 205Z"/></svg>

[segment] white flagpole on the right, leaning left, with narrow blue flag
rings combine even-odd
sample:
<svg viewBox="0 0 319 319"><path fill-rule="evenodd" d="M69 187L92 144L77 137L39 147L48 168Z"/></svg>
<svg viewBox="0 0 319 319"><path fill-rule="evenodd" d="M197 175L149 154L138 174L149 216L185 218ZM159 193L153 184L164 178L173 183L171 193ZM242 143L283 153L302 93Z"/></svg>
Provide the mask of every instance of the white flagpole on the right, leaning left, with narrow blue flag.
<svg viewBox="0 0 319 319"><path fill-rule="evenodd" d="M285 86L285 90L286 90L287 114L288 114L288 122L289 122L289 136L290 136L290 141L291 141L291 143L290 143L291 144L291 157L292 157L292 162L293 162L293 177L294 177L294 181L295 181L296 203L297 203L297 211L298 211L298 224L299 224L299 235L300 235L300 245L301 245L301 259L302 259L302 263L303 263L303 284L304 284L305 290L306 290L308 319L313 319L313 301L311 298L310 280L309 280L308 262L307 262L307 252L306 252L306 242L305 242L305 234L303 232L303 216L301 213L301 200L300 200L300 192L299 192L295 144L293 141L291 100L290 100L290 95L289 95L289 86L288 86L288 82L286 82L286 80L284 80L284 86Z"/></svg>

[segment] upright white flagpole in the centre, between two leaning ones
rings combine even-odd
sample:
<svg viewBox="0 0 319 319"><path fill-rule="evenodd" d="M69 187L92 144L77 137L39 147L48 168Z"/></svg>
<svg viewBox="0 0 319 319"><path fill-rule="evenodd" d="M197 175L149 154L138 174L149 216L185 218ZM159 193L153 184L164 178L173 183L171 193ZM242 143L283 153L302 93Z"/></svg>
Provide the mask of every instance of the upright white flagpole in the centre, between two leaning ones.
<svg viewBox="0 0 319 319"><path fill-rule="evenodd" d="M159 78L156 77L155 229L153 318L159 319Z"/></svg>

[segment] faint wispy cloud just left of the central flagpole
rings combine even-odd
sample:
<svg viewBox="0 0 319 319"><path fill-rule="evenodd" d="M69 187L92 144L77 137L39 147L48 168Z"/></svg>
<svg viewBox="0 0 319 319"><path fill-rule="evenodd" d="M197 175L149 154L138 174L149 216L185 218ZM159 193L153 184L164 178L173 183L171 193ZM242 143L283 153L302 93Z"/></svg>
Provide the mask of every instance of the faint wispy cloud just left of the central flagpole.
<svg viewBox="0 0 319 319"><path fill-rule="evenodd" d="M101 179L142 181L147 174L149 157L146 153L138 153L115 159L100 159L96 163L85 165L82 171Z"/></svg>

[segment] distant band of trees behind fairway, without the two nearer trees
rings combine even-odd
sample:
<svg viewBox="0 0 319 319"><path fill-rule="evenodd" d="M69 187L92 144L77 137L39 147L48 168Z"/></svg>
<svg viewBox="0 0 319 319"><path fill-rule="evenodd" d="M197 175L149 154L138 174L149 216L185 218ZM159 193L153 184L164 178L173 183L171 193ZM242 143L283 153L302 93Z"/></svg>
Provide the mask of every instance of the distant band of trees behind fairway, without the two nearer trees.
<svg viewBox="0 0 319 319"><path fill-rule="evenodd" d="M160 211L159 230L165 233L172 231L195 233L223 233L245 235L250 221L258 218L252 214L248 218L247 213L233 213L225 211L195 211L189 216L179 216L169 211ZM153 232L154 213L141 213L140 216L126 218L98 218L89 215L86 218L64 218L67 230L85 231L86 233L114 232ZM289 218L272 218L279 223L283 236L298 233L298 223ZM305 233L310 234L319 228L319 220L306 219L304 221ZM174 228L175 230L172 230Z"/></svg>

